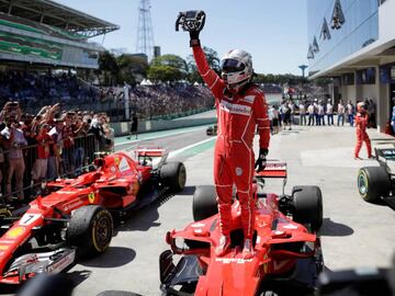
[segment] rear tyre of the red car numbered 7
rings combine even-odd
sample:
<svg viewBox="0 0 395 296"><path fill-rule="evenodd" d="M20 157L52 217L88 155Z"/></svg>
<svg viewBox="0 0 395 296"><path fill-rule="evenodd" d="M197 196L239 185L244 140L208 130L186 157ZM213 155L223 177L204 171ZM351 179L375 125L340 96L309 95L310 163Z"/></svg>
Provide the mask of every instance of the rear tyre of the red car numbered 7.
<svg viewBox="0 0 395 296"><path fill-rule="evenodd" d="M187 169L182 162L167 162L160 169L160 179L174 192L183 191L187 183Z"/></svg>

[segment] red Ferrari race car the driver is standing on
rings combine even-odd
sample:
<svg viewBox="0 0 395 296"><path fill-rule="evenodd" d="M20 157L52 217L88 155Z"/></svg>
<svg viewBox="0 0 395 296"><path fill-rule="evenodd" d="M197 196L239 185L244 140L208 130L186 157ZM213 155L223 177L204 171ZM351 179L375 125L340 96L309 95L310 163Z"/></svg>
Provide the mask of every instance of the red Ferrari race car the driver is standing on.
<svg viewBox="0 0 395 296"><path fill-rule="evenodd" d="M264 193L267 178L283 178L285 185L286 164L270 163L256 175L252 259L241 257L237 196L232 210L230 251L215 255L219 239L215 190L196 189L194 223L168 232L166 241L171 250L159 258L165 295L306 295L315 291L324 265L316 235L323 224L321 192L317 186L295 186L291 195Z"/></svg>

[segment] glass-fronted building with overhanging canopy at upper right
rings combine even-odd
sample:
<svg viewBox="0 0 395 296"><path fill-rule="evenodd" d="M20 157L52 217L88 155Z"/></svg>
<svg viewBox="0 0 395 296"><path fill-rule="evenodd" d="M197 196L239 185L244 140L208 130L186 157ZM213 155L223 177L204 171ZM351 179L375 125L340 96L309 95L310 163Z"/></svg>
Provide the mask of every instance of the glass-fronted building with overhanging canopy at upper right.
<svg viewBox="0 0 395 296"><path fill-rule="evenodd" d="M395 0L308 0L309 79L335 101L373 99L384 132L395 96Z"/></svg>

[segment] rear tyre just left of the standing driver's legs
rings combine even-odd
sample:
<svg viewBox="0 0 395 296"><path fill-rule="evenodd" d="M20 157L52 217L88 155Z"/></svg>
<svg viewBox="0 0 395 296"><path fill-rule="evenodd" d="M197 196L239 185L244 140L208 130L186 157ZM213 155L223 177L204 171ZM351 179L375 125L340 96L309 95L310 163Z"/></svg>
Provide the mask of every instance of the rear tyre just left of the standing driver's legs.
<svg viewBox="0 0 395 296"><path fill-rule="evenodd" d="M218 213L215 187L199 186L193 194L193 220L199 221Z"/></svg>

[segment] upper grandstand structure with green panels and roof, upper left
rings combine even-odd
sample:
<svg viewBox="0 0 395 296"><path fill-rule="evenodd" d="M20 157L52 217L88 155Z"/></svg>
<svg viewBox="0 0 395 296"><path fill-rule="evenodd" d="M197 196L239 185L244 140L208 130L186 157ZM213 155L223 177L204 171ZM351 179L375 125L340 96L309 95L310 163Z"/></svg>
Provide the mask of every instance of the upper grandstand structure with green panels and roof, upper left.
<svg viewBox="0 0 395 296"><path fill-rule="evenodd" d="M104 48L88 39L119 29L50 0L0 0L0 62L97 69Z"/></svg>

